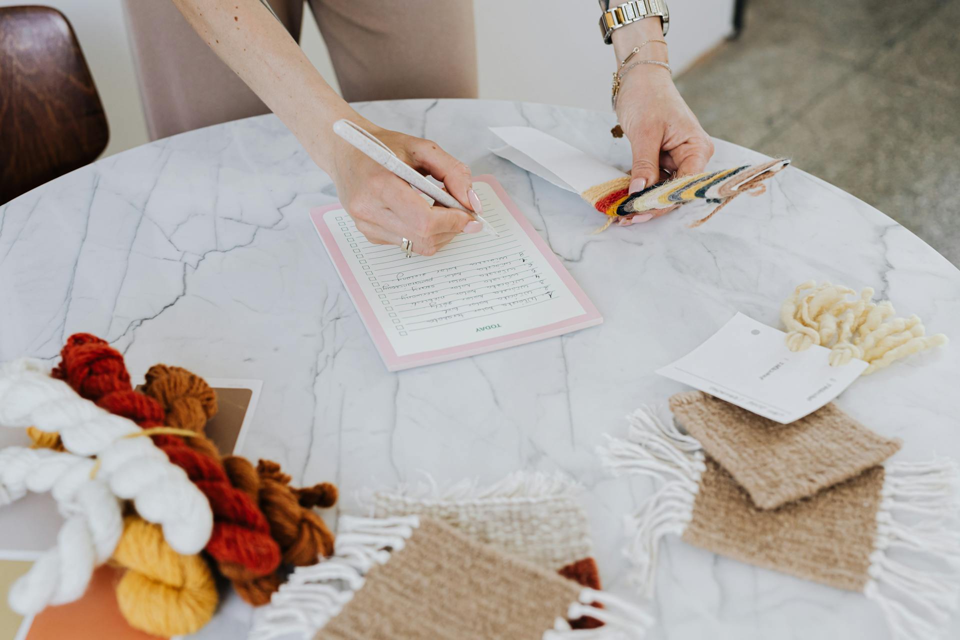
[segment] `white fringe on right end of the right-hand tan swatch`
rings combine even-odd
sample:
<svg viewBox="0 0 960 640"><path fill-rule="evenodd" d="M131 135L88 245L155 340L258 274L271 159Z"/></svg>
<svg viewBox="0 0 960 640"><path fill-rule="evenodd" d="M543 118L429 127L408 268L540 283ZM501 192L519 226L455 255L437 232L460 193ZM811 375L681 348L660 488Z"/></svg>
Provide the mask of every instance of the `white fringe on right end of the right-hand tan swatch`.
<svg viewBox="0 0 960 640"><path fill-rule="evenodd" d="M895 638L929 640L939 635L960 599L960 476L956 463L947 460L891 462L885 469L864 593L879 604ZM893 551L923 554L928 563L952 571L913 568L891 557Z"/></svg>

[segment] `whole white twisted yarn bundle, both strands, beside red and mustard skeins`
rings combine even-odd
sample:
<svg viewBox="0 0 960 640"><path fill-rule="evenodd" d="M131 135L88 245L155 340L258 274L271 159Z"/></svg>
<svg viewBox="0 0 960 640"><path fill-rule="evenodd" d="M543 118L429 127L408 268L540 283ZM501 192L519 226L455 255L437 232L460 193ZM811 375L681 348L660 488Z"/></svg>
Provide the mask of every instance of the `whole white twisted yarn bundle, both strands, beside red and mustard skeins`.
<svg viewBox="0 0 960 640"><path fill-rule="evenodd" d="M113 520L114 510L119 514L117 498L132 500L143 519L159 524L178 553L196 554L206 545L213 529L210 505L183 469L170 462L153 440L131 438L141 433L132 420L82 398L65 382L50 377L42 363L22 359L0 366L0 426L60 432L69 452L22 447L0 452L0 478L9 498L16 499L25 490L54 491L67 518L58 537L60 551L51 550L37 560L28 574L38 581L42 576L43 581L35 590L25 586L23 593L33 595L25 595L20 604L12 602L14 607L36 611L83 594L92 567L109 557L123 529L122 522L117 525ZM38 465L36 475L26 468L32 464ZM51 591L48 579L70 583ZM44 594L46 598L41 597Z"/></svg>

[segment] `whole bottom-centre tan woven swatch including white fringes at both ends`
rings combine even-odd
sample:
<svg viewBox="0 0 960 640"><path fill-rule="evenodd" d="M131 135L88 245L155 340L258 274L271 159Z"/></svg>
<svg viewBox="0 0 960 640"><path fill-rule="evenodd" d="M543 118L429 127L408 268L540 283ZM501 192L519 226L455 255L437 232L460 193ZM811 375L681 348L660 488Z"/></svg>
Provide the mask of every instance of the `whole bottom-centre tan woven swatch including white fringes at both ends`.
<svg viewBox="0 0 960 640"><path fill-rule="evenodd" d="M592 604L602 604L597 608ZM585 615L599 629L573 629ZM341 518L336 554L299 567L258 611L251 638L642 638L649 616L440 520Z"/></svg>

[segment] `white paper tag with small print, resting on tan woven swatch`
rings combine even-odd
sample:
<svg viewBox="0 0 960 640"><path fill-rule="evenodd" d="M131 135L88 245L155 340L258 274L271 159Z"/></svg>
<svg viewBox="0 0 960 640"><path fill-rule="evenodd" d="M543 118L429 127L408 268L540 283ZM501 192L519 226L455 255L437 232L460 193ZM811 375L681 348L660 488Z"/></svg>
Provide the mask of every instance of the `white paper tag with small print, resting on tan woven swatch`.
<svg viewBox="0 0 960 640"><path fill-rule="evenodd" d="M827 347L786 347L782 331L736 314L677 362L657 372L742 407L789 424L840 395L867 368L862 360L830 367Z"/></svg>

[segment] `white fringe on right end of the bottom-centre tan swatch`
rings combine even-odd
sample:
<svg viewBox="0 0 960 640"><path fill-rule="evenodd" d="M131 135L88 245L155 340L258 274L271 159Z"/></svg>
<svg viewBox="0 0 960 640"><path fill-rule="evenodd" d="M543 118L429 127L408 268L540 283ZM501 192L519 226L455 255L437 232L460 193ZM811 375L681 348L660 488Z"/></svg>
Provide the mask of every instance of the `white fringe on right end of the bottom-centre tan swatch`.
<svg viewBox="0 0 960 640"><path fill-rule="evenodd" d="M593 606L603 604L604 608ZM584 616L604 624L598 628L571 628L569 620ZM654 618L636 604L596 589L585 588L579 602L570 604L566 620L558 618L552 629L543 632L543 640L637 640L654 626Z"/></svg>

